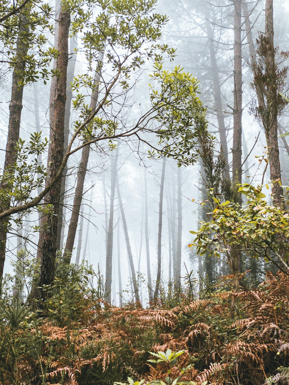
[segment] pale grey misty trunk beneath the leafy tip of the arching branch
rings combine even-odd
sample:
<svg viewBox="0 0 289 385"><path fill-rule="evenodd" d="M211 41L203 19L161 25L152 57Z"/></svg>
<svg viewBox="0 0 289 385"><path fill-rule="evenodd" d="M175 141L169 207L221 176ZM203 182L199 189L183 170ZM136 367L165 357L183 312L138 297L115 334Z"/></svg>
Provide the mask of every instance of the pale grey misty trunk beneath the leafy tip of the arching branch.
<svg viewBox="0 0 289 385"><path fill-rule="evenodd" d="M176 235L176 269L175 269L175 294L178 295L181 287L181 233L182 233L182 207L181 207L181 168L177 169L178 182L178 230Z"/></svg>

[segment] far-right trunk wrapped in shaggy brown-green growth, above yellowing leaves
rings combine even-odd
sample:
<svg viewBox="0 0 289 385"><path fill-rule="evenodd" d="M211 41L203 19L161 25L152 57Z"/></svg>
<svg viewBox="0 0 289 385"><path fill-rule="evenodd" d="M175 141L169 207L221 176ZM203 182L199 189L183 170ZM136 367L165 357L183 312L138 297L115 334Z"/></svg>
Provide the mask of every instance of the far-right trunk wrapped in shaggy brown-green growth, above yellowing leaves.
<svg viewBox="0 0 289 385"><path fill-rule="evenodd" d="M280 68L276 62L277 49L274 48L273 1L266 0L265 35L259 33L257 39L258 63L252 62L255 89L258 104L254 103L252 112L262 123L268 147L270 177L272 181L272 198L274 204L282 206L283 189L281 187L281 167L278 144L278 116L286 105L286 100L278 92L284 92L288 67ZM282 52L283 59L289 52Z"/></svg>

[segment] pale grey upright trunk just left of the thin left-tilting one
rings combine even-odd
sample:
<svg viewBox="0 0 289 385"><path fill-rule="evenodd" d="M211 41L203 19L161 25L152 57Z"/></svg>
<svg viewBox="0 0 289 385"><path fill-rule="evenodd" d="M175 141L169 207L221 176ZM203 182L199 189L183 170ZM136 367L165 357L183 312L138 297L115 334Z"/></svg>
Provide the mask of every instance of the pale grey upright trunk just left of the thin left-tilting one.
<svg viewBox="0 0 289 385"><path fill-rule="evenodd" d="M110 206L109 206L109 220L108 220L108 242L106 247L106 296L105 300L111 302L111 281L112 281L112 269L113 269L113 214L114 214L114 196L116 188L116 177L118 172L118 153L119 146L117 147L116 154L111 157L111 193L110 193Z"/></svg>

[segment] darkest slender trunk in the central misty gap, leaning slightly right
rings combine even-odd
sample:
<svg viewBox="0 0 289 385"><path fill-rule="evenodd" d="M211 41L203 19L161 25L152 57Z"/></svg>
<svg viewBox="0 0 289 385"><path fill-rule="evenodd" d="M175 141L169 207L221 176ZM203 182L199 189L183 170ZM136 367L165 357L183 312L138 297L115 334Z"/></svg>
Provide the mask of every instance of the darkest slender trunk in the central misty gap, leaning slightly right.
<svg viewBox="0 0 289 385"><path fill-rule="evenodd" d="M154 293L154 301L158 298L158 293L160 290L160 280L161 280L161 229L163 226L163 188L165 184L165 169L166 169L166 158L163 158L163 166L161 168L161 182L160 182L160 203L158 211L158 267L156 271L156 287Z"/></svg>

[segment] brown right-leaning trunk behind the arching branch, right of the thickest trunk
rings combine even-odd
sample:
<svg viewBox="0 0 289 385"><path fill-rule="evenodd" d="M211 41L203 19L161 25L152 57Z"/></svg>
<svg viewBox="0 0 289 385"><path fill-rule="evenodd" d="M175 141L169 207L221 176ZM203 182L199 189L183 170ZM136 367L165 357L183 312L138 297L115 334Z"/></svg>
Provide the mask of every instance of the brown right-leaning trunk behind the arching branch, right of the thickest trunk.
<svg viewBox="0 0 289 385"><path fill-rule="evenodd" d="M100 68L103 60L103 55L104 55L104 52L101 52L101 54L99 55L99 69L96 70L96 74L94 77L94 84L97 84L97 88L91 95L90 109L92 112L96 109L96 105L97 105L97 98L99 93L99 81L101 76ZM64 249L64 258L66 260L66 263L70 263L71 254L74 246L76 228L77 228L77 223L79 218L79 210L82 202L83 187L84 187L87 164L89 159L89 152L90 152L90 146L85 146L82 148L81 161L79 163L78 170L77 170L76 189L75 189L75 195L73 200L71 219L69 222L69 228L67 233L66 245Z"/></svg>

